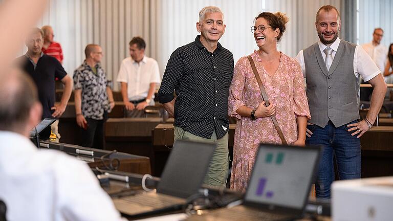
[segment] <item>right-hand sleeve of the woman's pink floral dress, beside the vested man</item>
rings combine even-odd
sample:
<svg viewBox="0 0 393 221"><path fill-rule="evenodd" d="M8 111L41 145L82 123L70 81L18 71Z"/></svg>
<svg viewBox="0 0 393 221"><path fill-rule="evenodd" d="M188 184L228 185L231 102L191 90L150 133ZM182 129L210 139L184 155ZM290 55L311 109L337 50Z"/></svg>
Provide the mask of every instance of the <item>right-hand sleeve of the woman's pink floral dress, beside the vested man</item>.
<svg viewBox="0 0 393 221"><path fill-rule="evenodd" d="M306 116L311 119L309 103L304 90L304 79L299 63L292 61L294 65L293 76L293 106L296 116Z"/></svg>

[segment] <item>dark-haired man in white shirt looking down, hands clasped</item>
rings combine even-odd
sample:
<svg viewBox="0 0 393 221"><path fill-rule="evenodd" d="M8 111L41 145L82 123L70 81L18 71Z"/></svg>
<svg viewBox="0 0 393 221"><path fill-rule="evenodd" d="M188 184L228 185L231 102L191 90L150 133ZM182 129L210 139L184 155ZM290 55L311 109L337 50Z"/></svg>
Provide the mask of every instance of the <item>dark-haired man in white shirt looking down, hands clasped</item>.
<svg viewBox="0 0 393 221"><path fill-rule="evenodd" d="M134 37L129 42L130 57L121 62L117 76L127 117L144 116L144 108L154 105L156 84L161 82L158 63L145 56L145 48L143 38Z"/></svg>

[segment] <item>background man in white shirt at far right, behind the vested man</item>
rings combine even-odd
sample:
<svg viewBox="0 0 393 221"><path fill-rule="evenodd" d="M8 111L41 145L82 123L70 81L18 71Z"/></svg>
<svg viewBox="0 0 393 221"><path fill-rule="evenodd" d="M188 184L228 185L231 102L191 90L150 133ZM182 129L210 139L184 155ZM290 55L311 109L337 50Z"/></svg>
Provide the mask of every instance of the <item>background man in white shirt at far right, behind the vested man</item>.
<svg viewBox="0 0 393 221"><path fill-rule="evenodd" d="M382 37L383 29L376 28L374 29L373 33L373 40L369 43L365 43L364 45L362 45L364 51L366 51L366 53L371 57L371 59L373 59L375 64L377 64L380 73L384 72L387 59L387 47L381 44ZM390 82L391 79L393 79L392 76L385 77L386 82ZM365 81L363 80L362 83L364 82ZM372 93L372 87L362 87L360 89L360 100L369 101Z"/></svg>

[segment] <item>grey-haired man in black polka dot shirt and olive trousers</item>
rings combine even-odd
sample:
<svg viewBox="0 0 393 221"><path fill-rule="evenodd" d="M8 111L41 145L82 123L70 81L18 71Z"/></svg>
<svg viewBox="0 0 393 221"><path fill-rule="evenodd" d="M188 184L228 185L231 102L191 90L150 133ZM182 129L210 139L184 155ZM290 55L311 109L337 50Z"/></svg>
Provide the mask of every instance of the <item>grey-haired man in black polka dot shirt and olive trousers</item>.
<svg viewBox="0 0 393 221"><path fill-rule="evenodd" d="M216 144L204 180L211 186L226 185L229 167L227 113L233 55L218 42L225 32L223 17L214 6L199 12L201 35L172 53L158 92L160 103L175 119L175 140Z"/></svg>

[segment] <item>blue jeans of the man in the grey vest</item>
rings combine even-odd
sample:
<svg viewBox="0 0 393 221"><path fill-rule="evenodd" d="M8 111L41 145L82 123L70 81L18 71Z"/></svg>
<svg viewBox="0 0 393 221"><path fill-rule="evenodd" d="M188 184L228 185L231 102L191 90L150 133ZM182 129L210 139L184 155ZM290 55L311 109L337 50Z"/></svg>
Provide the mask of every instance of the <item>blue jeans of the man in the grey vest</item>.
<svg viewBox="0 0 393 221"><path fill-rule="evenodd" d="M307 144L322 145L322 156L319 162L318 180L315 184L317 198L330 198L330 189L334 181L333 157L338 167L338 177L340 180L350 180L360 178L361 173L361 150L360 139L351 136L353 131L349 131L348 124L335 127L331 121L325 128L317 125L307 125L313 132L311 138L307 137Z"/></svg>

